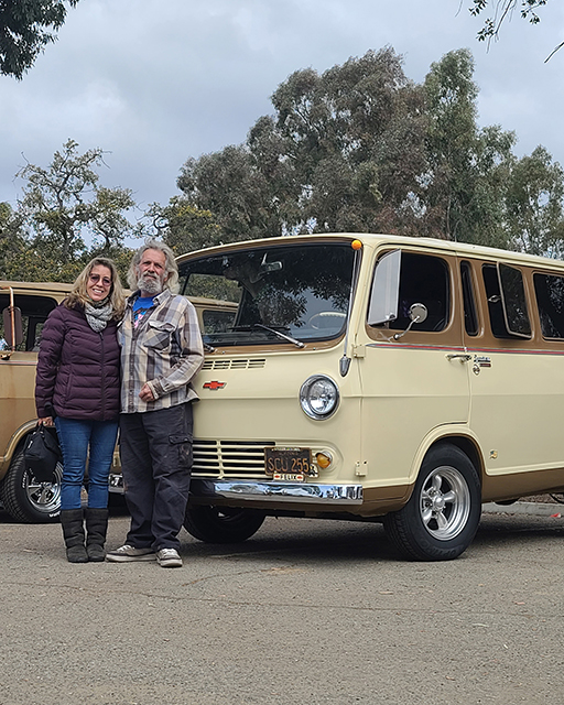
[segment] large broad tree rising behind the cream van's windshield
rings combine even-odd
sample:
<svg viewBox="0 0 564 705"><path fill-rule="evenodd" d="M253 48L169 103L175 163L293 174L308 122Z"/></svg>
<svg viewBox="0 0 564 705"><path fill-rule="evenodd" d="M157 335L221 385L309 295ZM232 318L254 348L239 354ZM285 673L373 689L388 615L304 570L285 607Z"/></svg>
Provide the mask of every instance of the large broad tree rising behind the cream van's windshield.
<svg viewBox="0 0 564 705"><path fill-rule="evenodd" d="M295 231L401 230L423 169L423 94L393 50L318 75L299 70L247 143L188 160L178 187L231 239Z"/></svg>

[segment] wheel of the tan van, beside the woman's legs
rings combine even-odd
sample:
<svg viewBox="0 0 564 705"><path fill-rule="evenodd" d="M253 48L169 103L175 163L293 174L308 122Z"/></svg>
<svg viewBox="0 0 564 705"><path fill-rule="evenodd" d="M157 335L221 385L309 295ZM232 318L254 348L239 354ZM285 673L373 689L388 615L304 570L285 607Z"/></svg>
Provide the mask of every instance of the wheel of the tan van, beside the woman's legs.
<svg viewBox="0 0 564 705"><path fill-rule="evenodd" d="M24 523L53 523L61 514L61 480L63 466L57 463L51 482L39 482L25 467L23 448L13 456L0 485L0 499L4 510Z"/></svg>

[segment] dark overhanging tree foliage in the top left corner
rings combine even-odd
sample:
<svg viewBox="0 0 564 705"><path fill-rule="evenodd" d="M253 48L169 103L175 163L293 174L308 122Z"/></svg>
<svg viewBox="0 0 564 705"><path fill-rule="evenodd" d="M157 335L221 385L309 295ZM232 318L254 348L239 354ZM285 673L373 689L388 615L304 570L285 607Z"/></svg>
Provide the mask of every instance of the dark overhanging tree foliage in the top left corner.
<svg viewBox="0 0 564 705"><path fill-rule="evenodd" d="M0 0L0 73L22 79L39 53L56 41L65 2L75 7L78 0Z"/></svg>

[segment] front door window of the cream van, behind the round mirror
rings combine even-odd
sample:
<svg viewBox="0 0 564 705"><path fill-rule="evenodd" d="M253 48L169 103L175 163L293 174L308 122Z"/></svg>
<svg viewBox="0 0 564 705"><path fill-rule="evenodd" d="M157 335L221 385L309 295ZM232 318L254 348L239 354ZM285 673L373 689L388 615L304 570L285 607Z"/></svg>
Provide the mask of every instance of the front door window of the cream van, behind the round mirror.
<svg viewBox="0 0 564 705"><path fill-rule="evenodd" d="M404 330L411 323L410 307L424 304L429 315L412 330L443 330L448 323L449 291L448 265L444 260L429 254L402 252L398 318L389 327Z"/></svg>

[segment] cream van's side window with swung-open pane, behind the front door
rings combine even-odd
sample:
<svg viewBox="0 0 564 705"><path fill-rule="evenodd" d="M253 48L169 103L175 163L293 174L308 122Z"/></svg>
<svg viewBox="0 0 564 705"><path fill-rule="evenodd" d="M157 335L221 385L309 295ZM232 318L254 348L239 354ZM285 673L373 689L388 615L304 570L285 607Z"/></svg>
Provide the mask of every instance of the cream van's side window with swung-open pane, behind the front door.
<svg viewBox="0 0 564 705"><path fill-rule="evenodd" d="M530 338L531 323L521 271L508 264L484 264L482 275L491 333L496 338Z"/></svg>

